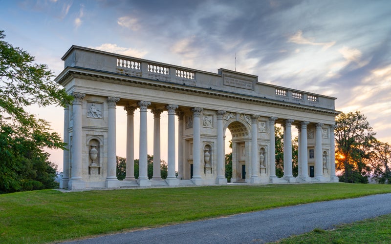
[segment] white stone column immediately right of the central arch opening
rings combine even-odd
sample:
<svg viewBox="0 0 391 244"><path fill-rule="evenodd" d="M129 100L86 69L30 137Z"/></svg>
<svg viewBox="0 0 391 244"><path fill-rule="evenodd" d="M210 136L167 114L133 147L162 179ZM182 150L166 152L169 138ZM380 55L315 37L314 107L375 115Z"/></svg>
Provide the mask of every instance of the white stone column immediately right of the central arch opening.
<svg viewBox="0 0 391 244"><path fill-rule="evenodd" d="M258 153L258 118L259 115L251 116L251 183L260 183L258 171L260 169Z"/></svg>

